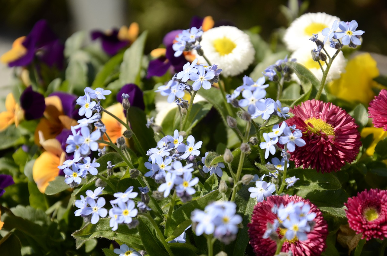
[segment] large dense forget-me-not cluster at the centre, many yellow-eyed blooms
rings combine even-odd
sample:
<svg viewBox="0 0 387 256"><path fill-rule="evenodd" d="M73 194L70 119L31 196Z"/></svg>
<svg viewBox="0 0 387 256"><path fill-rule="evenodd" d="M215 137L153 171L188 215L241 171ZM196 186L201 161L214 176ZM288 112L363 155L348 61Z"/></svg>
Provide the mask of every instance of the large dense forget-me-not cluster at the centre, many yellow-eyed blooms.
<svg viewBox="0 0 387 256"><path fill-rule="evenodd" d="M144 176L152 177L156 182L161 183L158 191L164 192L164 197L168 197L171 189L176 189L177 195L182 201L192 199L195 194L195 186L199 182L198 177L192 178L195 159L200 154L198 150L202 147L202 142L195 143L195 138L190 135L187 138L187 145L183 143L183 136L175 130L173 136L163 137L157 144L157 148L147 151L149 162L145 167L149 169ZM183 166L181 160L187 164Z"/></svg>

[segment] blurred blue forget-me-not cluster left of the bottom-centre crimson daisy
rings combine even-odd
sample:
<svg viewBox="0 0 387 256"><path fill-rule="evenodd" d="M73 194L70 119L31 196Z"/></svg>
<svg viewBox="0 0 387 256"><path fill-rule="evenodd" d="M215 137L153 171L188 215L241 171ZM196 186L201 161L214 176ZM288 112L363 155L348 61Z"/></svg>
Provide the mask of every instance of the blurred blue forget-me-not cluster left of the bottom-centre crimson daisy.
<svg viewBox="0 0 387 256"><path fill-rule="evenodd" d="M191 213L193 229L196 236L203 233L229 244L238 233L242 217L236 213L236 204L230 201L216 201L207 205L204 211L195 209Z"/></svg>

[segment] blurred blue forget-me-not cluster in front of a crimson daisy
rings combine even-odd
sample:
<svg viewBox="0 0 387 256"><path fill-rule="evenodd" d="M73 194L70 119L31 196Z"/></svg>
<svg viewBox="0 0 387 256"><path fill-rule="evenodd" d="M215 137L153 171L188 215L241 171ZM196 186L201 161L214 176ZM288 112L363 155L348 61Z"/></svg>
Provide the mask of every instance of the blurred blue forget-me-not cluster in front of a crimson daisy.
<svg viewBox="0 0 387 256"><path fill-rule="evenodd" d="M277 237L277 229L286 230L285 237L288 241L297 239L305 241L307 233L313 229L316 213L310 212L310 205L304 202L289 202L286 206L273 207L272 213L277 215L274 223L268 225L263 236L264 239Z"/></svg>

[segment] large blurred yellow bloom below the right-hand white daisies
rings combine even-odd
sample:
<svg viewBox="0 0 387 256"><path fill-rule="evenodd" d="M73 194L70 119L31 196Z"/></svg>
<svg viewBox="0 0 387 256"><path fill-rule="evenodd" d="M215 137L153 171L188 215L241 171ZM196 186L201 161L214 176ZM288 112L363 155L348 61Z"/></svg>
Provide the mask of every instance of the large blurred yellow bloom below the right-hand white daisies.
<svg viewBox="0 0 387 256"><path fill-rule="evenodd" d="M368 104L375 96L372 88L380 87L374 79L379 75L376 61L369 53L362 53L348 61L346 72L328 84L330 93L346 101Z"/></svg>

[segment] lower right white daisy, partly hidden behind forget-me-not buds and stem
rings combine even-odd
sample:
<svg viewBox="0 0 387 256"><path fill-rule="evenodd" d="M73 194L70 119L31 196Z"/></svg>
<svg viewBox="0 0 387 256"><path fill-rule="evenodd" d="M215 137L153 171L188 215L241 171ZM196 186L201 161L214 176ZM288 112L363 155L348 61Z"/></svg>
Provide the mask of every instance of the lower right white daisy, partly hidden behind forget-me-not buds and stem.
<svg viewBox="0 0 387 256"><path fill-rule="evenodd" d="M310 51L313 48L316 48L316 44L310 42L304 48L300 48L300 49L294 51L292 53L292 55L290 56L290 58L296 58L298 63L307 67L310 70L310 72L312 72L313 75L315 75L316 78L321 81L322 70L320 68L319 63L312 59L312 54L310 53ZM325 49L327 50L327 52L329 53L329 55L331 57L336 53L336 49L333 49L329 46L325 46ZM321 52L324 53L323 50ZM327 59L327 61L329 61L329 60ZM327 68L327 65L325 64L325 62L320 61L320 63L322 64L322 67L325 70L325 68ZM334 79L340 78L341 73L345 72L345 67L346 67L346 59L344 58L342 51L340 51L339 54L334 59L332 66L329 69L326 82L330 82ZM297 81L297 82L300 82L297 75L294 73L292 74L292 79Z"/></svg>

